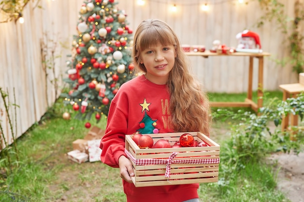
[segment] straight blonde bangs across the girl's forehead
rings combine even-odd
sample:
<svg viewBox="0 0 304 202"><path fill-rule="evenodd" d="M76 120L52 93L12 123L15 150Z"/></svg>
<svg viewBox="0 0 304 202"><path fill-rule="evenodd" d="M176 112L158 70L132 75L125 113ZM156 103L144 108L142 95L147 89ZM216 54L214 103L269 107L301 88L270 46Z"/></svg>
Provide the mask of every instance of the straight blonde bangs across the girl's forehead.
<svg viewBox="0 0 304 202"><path fill-rule="evenodd" d="M174 36L168 30L150 28L141 34L138 47L140 50L145 50L158 44L168 46L176 45L176 42Z"/></svg>

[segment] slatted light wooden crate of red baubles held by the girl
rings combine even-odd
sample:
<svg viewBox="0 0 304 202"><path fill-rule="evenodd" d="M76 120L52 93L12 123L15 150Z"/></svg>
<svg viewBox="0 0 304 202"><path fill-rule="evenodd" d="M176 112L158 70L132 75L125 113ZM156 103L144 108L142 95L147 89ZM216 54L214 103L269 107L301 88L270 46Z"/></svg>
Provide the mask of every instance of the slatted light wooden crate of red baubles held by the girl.
<svg viewBox="0 0 304 202"><path fill-rule="evenodd" d="M204 141L207 147L150 148L140 149L126 135L126 154L131 160L135 176L132 181L136 187L181 185L191 183L212 183L218 181L220 164L220 145L201 132L187 132L195 140ZM182 133L148 134L157 140L169 140L173 145ZM176 155L174 157L174 155ZM169 160L169 158L172 161ZM169 167L169 168L167 168ZM169 177L166 177L170 172Z"/></svg>

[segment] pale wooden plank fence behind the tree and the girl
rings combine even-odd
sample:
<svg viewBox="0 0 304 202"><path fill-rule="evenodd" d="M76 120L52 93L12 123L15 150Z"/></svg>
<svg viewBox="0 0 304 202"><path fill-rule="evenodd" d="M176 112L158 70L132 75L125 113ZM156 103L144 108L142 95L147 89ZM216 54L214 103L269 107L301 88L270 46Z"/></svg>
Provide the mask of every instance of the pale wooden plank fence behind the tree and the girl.
<svg viewBox="0 0 304 202"><path fill-rule="evenodd" d="M228 47L236 47L236 34L250 29L260 35L262 49L271 54L264 60L264 89L278 90L279 84L296 82L298 75L292 72L290 64L282 67L275 62L288 56L286 35L277 29L275 22L265 22L257 28L257 19L263 14L258 0L244 1L248 2L208 0L210 8L204 12L201 10L204 0L144 0L144 5L138 5L138 0L119 0L118 9L125 10L126 20L134 31L142 20L157 18L169 23L182 44L204 45L206 49L210 49L216 39ZM291 18L295 1L280 0ZM71 53L72 36L77 33L83 0L40 0L41 8L36 6L37 2L31 1L25 7L23 24L0 23L0 87L9 94L8 102L19 106L16 115L12 106L9 110L16 138L41 119L65 85L62 78L67 77L67 55ZM176 12L170 10L174 4ZM191 62L194 74L207 92L247 91L248 58L191 56ZM253 90L257 90L256 66ZM58 88L54 86L57 79ZM2 100L0 112L3 134L12 143Z"/></svg>

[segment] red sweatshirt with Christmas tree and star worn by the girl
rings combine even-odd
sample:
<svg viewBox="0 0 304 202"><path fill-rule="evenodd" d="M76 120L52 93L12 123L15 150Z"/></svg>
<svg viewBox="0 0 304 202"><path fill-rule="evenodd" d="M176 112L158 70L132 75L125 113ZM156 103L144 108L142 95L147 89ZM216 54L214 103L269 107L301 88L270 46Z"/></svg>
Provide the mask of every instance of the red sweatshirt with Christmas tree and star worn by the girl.
<svg viewBox="0 0 304 202"><path fill-rule="evenodd" d="M125 155L125 134L173 132L168 125L169 118L166 85L154 84L144 75L122 84L109 109L100 145L101 161L118 168L118 158ZM199 198L199 184L135 187L124 180L122 183L127 202L183 202Z"/></svg>

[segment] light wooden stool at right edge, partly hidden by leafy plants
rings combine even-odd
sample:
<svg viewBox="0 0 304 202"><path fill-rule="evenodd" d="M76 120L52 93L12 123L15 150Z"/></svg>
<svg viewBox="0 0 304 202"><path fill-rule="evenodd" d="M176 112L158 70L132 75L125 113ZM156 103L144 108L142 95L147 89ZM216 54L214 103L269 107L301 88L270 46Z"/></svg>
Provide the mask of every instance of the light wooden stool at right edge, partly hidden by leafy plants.
<svg viewBox="0 0 304 202"><path fill-rule="evenodd" d="M297 94L304 92L304 85L301 83L282 84L279 87L283 90L283 101L287 100L290 96L295 98ZM287 130L288 122L289 114L282 119L282 131ZM298 115L291 114L290 125L298 125Z"/></svg>

